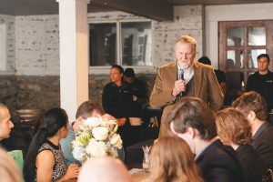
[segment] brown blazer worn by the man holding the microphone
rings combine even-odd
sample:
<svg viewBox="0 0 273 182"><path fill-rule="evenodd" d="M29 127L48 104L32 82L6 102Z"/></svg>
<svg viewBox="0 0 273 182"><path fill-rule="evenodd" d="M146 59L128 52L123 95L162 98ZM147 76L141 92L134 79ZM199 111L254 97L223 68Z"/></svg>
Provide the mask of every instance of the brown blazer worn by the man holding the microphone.
<svg viewBox="0 0 273 182"><path fill-rule="evenodd" d="M194 61L193 68L195 96L205 101L212 111L219 110L223 106L224 96L221 93L213 67ZM158 68L155 86L150 96L150 106L164 106L159 137L167 135L167 115L177 103L177 99L174 100L171 96L176 81L177 61Z"/></svg>

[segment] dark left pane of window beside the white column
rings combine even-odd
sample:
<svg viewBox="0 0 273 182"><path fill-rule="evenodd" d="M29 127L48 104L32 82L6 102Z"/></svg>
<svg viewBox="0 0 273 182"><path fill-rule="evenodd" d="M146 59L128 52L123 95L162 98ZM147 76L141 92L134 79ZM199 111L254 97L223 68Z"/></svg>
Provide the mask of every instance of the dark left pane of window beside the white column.
<svg viewBox="0 0 273 182"><path fill-rule="evenodd" d="M89 25L90 66L116 64L116 23Z"/></svg>

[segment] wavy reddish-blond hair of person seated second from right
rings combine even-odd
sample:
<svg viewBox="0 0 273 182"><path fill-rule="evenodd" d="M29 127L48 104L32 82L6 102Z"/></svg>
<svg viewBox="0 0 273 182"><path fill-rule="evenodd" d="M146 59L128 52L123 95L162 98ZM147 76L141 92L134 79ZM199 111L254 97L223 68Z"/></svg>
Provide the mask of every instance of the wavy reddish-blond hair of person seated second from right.
<svg viewBox="0 0 273 182"><path fill-rule="evenodd" d="M216 113L217 135L224 144L248 144L251 141L251 126L247 117L235 108L228 107Z"/></svg>

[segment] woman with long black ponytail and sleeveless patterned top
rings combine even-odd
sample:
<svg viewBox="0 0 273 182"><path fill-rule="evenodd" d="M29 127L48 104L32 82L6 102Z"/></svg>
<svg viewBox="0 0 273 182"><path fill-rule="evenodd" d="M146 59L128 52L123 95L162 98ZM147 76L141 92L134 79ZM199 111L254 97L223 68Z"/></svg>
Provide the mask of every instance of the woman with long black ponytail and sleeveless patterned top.
<svg viewBox="0 0 273 182"><path fill-rule="evenodd" d="M41 118L25 157L25 181L65 181L77 177L79 168L75 164L66 166L59 145L68 133L68 126L68 117L62 108L52 108Z"/></svg>

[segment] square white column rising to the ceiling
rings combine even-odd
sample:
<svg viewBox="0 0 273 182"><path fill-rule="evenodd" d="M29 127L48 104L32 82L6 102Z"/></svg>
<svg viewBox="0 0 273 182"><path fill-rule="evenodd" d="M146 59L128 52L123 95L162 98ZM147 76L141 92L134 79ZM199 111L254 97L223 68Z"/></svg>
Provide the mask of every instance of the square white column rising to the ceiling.
<svg viewBox="0 0 273 182"><path fill-rule="evenodd" d="M72 122L77 106L88 99L89 0L56 1L59 3L61 107Z"/></svg>

